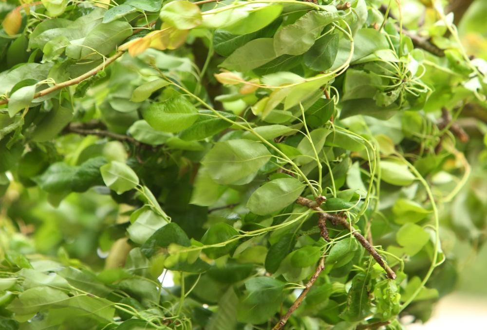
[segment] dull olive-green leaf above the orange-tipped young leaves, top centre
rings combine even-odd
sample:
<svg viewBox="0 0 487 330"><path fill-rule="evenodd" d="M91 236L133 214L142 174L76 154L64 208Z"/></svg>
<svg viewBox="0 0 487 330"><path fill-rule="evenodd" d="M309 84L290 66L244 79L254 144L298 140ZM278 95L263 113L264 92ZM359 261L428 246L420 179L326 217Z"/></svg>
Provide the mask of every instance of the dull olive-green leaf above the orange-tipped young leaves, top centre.
<svg viewBox="0 0 487 330"><path fill-rule="evenodd" d="M276 58L272 38L259 38L247 42L238 48L221 64L229 70L246 72Z"/></svg>

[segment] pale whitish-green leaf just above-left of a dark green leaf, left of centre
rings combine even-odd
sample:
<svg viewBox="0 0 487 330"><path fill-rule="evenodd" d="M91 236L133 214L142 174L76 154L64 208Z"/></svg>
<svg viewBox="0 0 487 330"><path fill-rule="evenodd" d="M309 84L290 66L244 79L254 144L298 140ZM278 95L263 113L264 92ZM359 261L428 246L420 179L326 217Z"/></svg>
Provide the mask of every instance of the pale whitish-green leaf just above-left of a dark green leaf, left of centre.
<svg viewBox="0 0 487 330"><path fill-rule="evenodd" d="M127 228L129 238L134 243L144 244L155 231L166 226L168 221L150 208L144 207L132 213L131 223Z"/></svg>

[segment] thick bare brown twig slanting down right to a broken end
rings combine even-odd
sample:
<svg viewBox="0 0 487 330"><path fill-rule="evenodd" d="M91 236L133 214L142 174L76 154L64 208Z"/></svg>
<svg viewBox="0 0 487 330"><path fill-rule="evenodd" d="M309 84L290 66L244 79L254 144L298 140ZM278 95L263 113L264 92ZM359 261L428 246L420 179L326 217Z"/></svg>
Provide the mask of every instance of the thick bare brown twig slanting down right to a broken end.
<svg viewBox="0 0 487 330"><path fill-rule="evenodd" d="M356 238L358 243L360 243L369 253L370 255L375 259L375 261L385 270L387 273L387 277L394 279L396 278L396 275L394 271L389 267L385 261L380 257L380 255L377 253L375 250L374 246L372 246L366 239L365 237L362 236L358 231L354 230L352 225L347 221L347 219L343 216L335 215L335 214L330 214L325 212L322 208L319 206L316 206L316 202L312 201L311 199L305 198L305 197L298 197L296 200L296 203L306 206L308 208L312 208L320 213L320 216L323 217L326 220L330 220L333 225L341 225L347 228L352 232L352 235Z"/></svg>

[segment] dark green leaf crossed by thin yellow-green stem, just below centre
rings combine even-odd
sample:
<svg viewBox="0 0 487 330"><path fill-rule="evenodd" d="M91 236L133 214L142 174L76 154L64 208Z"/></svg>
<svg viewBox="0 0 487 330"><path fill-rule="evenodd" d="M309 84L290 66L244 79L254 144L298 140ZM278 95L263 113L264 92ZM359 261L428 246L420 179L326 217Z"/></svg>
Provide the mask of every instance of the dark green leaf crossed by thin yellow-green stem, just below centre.
<svg viewBox="0 0 487 330"><path fill-rule="evenodd" d="M223 222L212 225L206 230L205 235L201 238L201 243L205 245L218 244L226 242L232 238L235 238L239 233L234 227L227 225ZM222 247L210 247L204 250L208 258L217 259L225 254L228 254L236 245L238 241L226 243Z"/></svg>

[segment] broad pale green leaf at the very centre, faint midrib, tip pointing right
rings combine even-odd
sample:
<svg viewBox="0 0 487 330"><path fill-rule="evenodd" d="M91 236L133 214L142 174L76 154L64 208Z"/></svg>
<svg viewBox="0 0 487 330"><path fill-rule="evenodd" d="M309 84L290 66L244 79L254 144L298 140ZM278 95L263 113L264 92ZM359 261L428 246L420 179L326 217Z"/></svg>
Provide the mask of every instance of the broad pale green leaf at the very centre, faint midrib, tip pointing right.
<svg viewBox="0 0 487 330"><path fill-rule="evenodd" d="M270 157L261 143L236 139L217 142L203 158L202 164L216 182L244 185L254 179Z"/></svg>

